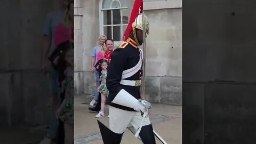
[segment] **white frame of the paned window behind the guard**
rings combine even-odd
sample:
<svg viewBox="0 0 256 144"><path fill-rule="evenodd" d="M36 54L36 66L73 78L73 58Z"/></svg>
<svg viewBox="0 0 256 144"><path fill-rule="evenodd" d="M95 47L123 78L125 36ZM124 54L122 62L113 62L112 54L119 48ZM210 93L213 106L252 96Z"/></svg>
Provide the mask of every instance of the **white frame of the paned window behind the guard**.
<svg viewBox="0 0 256 144"><path fill-rule="evenodd" d="M123 33L123 26L127 26L127 24L123 24L123 9L128 9L128 7L122 7L122 4L118 1L118 0L112 0L111 4L114 2L114 1L117 1L119 2L119 4L121 5L121 8L113 8L113 9L102 9L102 4L103 4L103 1L105 0L100 0L100 3L99 3L99 26L100 26L100 35L104 35L104 29L103 27L106 27L106 26L111 26L111 34L112 34L112 39L113 39L113 26L121 26L121 36L123 36L124 34ZM125 0L127 1L127 0ZM110 4L110 5L111 5ZM103 23L103 11L104 10L121 10L120 11L120 14L121 14L121 24L119 25L113 25L113 11L111 11L111 25L104 25ZM117 47L119 45L121 45L123 43L122 39L121 41L114 41L114 47Z"/></svg>

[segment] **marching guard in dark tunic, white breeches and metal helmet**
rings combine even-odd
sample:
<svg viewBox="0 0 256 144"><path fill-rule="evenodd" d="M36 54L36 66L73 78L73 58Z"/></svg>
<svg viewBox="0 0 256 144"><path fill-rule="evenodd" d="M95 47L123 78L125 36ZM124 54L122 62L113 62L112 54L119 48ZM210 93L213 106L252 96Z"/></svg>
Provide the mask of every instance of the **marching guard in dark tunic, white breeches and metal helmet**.
<svg viewBox="0 0 256 144"><path fill-rule="evenodd" d="M142 20L146 29L143 30ZM142 113L147 107L141 105L140 82L142 72L142 54L139 45L143 42L143 33L148 34L148 21L145 15L139 14L132 24L132 33L127 41L121 44L111 55L108 67L107 88L109 95L109 129L108 137L102 134L104 144L119 144L128 125L138 130ZM99 124L100 125L100 124ZM101 129L102 133L102 129ZM155 144L153 127L147 117L139 137L143 143ZM108 139L108 140L106 140Z"/></svg>

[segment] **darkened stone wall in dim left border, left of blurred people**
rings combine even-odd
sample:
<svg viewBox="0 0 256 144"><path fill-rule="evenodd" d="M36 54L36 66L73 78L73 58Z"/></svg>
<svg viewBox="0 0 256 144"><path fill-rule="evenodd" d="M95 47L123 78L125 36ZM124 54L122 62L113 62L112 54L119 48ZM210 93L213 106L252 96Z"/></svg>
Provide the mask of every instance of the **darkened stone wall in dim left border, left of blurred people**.
<svg viewBox="0 0 256 144"><path fill-rule="evenodd" d="M43 24L58 1L8 1L0 4L0 126L45 124L51 87L41 69ZM30 6L27 9L27 5ZM11 9L10 9L11 7Z"/></svg>

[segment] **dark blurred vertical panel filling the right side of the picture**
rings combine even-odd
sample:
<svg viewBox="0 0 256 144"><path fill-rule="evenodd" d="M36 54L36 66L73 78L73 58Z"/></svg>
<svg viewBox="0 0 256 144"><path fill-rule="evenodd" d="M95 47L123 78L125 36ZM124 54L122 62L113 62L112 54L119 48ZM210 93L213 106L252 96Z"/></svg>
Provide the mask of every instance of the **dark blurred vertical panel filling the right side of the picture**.
<svg viewBox="0 0 256 144"><path fill-rule="evenodd" d="M255 143L255 4L182 0L182 143Z"/></svg>

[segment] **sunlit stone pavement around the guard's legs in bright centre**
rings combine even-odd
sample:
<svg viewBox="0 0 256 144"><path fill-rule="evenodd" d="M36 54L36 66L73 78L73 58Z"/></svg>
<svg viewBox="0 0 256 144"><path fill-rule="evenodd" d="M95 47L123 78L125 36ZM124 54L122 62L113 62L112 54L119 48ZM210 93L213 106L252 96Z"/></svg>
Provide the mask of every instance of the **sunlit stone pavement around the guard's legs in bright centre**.
<svg viewBox="0 0 256 144"><path fill-rule="evenodd" d="M89 95L82 95L75 97L75 144L102 144L101 134L98 127L95 115L88 110ZM108 111L106 107L106 112ZM153 104L153 109L150 113L150 120L153 124L154 130L161 135L161 137L168 144L181 144L181 118L182 107L169 106L161 104ZM105 113L106 113L105 112ZM102 123L108 126L108 113L105 117L99 118ZM122 144L139 144L140 142L134 135L126 130L122 139ZM161 143L157 141L157 143Z"/></svg>

